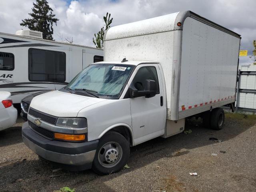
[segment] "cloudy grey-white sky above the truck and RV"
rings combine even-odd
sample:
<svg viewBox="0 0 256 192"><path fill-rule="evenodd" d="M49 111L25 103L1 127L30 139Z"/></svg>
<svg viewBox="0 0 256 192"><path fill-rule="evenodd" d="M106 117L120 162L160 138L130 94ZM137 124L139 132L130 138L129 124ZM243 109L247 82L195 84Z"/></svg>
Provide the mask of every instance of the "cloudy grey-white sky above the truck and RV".
<svg viewBox="0 0 256 192"><path fill-rule="evenodd" d="M31 12L35 0L1 0L0 32L15 34ZM73 37L75 44L94 46L92 37L103 26L106 12L114 18L112 26L134 22L181 10L191 10L242 35L240 50L252 54L256 39L256 0L48 0L59 19L54 39ZM240 64L252 64L240 57Z"/></svg>

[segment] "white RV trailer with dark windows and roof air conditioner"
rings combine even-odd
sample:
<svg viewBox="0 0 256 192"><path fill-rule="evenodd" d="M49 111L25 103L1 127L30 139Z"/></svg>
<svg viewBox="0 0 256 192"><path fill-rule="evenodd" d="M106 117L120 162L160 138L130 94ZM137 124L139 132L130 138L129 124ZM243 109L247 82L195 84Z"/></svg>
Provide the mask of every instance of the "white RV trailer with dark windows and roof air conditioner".
<svg viewBox="0 0 256 192"><path fill-rule="evenodd" d="M42 39L41 32L0 33L0 91L12 94L14 104L29 94L58 90L93 62L103 50Z"/></svg>

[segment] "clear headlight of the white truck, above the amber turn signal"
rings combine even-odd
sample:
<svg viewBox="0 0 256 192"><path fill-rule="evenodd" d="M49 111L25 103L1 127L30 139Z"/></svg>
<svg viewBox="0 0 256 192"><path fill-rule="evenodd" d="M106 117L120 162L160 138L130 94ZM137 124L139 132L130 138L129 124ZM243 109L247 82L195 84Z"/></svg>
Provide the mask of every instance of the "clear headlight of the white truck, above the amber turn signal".
<svg viewBox="0 0 256 192"><path fill-rule="evenodd" d="M86 118L58 118L56 126L70 128L86 128Z"/></svg>

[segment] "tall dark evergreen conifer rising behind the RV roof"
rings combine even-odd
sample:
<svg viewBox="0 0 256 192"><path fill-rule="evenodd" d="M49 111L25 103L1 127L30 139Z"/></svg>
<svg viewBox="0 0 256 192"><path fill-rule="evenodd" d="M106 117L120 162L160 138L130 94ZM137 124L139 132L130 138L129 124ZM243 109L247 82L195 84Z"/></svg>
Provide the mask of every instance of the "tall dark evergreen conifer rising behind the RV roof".
<svg viewBox="0 0 256 192"><path fill-rule="evenodd" d="M26 26L30 30L40 31L43 33L43 38L53 40L53 24L57 26L57 18L52 14L52 8L48 5L46 0L36 0L33 2L32 13L29 15L32 18L26 18L20 23L21 26Z"/></svg>

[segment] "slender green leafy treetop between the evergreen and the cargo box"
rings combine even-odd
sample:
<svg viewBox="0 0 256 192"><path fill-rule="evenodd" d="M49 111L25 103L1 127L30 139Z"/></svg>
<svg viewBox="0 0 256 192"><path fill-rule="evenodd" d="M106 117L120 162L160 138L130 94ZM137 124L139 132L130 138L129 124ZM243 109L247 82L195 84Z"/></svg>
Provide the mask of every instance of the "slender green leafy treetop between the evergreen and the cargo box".
<svg viewBox="0 0 256 192"><path fill-rule="evenodd" d="M97 34L94 34L94 38L92 38L92 42L94 45L96 45L96 48L103 48L103 40L104 40L104 34L108 28L110 28L110 24L112 23L113 18L110 19L110 14L106 14L106 16L103 17L106 28L102 27L100 31Z"/></svg>

